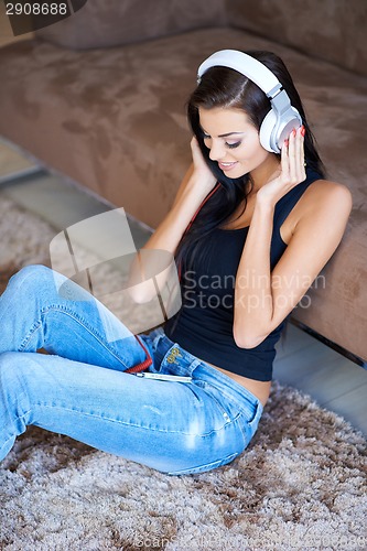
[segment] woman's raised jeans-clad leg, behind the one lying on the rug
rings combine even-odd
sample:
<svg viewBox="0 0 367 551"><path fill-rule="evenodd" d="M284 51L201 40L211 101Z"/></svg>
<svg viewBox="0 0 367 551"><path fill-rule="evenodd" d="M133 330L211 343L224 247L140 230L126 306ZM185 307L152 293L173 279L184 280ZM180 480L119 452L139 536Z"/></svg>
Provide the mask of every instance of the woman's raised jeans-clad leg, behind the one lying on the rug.
<svg viewBox="0 0 367 551"><path fill-rule="evenodd" d="M145 359L136 337L91 294L50 268L29 266L0 296L0 354L39 348L120 370Z"/></svg>

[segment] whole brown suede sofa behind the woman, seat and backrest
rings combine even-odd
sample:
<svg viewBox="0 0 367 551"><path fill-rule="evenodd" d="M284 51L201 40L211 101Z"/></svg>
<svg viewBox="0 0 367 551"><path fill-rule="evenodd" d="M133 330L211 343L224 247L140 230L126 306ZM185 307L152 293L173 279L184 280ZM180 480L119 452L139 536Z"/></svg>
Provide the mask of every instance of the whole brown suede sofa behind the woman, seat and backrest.
<svg viewBox="0 0 367 551"><path fill-rule="evenodd" d="M274 51L330 179L354 197L325 284L293 318L366 360L366 17L365 0L89 0L0 48L0 133L155 227L191 161L185 101L198 64L220 48Z"/></svg>

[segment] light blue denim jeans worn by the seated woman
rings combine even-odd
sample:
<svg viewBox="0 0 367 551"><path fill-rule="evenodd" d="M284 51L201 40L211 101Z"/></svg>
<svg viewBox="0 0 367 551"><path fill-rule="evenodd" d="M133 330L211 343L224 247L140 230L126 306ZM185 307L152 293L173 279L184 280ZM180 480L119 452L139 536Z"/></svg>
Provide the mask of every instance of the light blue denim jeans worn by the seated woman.
<svg viewBox="0 0 367 551"><path fill-rule="evenodd" d="M192 380L123 372L145 359L138 339L82 288L67 283L66 299L55 281L67 280L30 266L0 298L0 460L28 425L172 475L225 465L245 450L262 413L251 392L162 328L139 336L149 371Z"/></svg>

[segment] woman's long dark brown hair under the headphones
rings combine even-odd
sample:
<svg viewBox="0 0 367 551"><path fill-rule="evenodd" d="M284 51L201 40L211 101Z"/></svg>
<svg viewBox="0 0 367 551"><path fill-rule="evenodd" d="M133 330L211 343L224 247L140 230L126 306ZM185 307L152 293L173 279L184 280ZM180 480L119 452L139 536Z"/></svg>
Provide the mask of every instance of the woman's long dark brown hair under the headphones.
<svg viewBox="0 0 367 551"><path fill-rule="evenodd" d="M245 53L263 63L277 76L285 89L292 106L301 115L306 130L304 152L307 166L317 172L321 177L325 177L325 170L316 151L315 140L307 123L301 98L284 63L272 52L247 51ZM197 138L207 165L220 183L220 186L203 206L177 247L176 261L179 263L186 261L187 269L191 269L190 266L192 266L198 249L201 249L201 255L203 255L205 248L199 247L201 242L203 242L202 240L228 219L241 202L245 205L244 209L246 208L247 195L252 187L248 174L238 179L229 179L218 168L217 162L212 161L209 158L209 149L204 143L204 134L199 125L198 109L211 109L214 107L242 109L255 128L260 130L261 123L269 112L271 105L266 94L252 80L237 71L222 66L211 67L206 71L202 76L201 83L188 98L188 123Z"/></svg>

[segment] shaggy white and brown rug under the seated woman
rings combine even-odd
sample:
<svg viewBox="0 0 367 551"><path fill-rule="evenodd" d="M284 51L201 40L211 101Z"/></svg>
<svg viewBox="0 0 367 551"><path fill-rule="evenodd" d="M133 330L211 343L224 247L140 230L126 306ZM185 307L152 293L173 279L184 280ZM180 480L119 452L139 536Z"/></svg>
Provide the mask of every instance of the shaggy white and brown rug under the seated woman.
<svg viewBox="0 0 367 551"><path fill-rule="evenodd" d="M0 199L2 289L21 266L48 263L55 234ZM30 428L0 464L0 549L366 549L366 467L360 433L277 381L247 451L199 475Z"/></svg>

